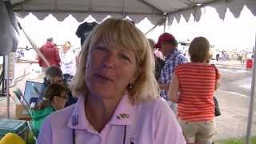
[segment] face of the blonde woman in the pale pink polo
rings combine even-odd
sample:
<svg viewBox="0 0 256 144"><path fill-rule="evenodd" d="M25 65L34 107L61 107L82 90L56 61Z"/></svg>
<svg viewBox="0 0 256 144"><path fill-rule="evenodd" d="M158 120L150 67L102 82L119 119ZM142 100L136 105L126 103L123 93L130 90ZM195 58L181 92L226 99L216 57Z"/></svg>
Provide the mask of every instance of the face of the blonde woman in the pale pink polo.
<svg viewBox="0 0 256 144"><path fill-rule="evenodd" d="M121 98L128 84L135 81L135 71L133 52L97 42L88 55L86 86L95 96Z"/></svg>

